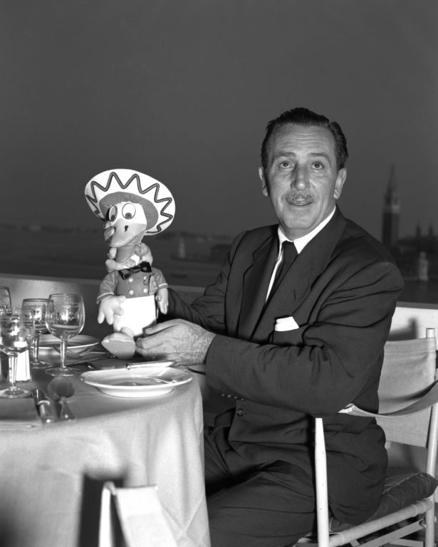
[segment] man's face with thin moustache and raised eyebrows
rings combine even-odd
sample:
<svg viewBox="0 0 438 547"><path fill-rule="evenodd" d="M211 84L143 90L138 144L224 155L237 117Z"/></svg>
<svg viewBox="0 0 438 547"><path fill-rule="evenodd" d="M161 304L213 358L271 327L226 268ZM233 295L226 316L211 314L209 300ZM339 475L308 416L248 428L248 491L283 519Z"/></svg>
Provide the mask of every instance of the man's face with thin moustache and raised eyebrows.
<svg viewBox="0 0 438 547"><path fill-rule="evenodd" d="M305 236L328 217L347 176L345 169L336 167L330 130L296 124L273 133L266 173L260 168L259 174L263 193L289 239Z"/></svg>

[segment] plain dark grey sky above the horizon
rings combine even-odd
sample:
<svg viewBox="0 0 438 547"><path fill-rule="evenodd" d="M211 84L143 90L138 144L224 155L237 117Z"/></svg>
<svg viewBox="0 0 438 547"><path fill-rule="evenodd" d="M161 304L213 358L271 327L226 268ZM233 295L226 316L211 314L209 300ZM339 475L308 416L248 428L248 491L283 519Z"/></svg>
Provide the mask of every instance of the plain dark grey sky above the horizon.
<svg viewBox="0 0 438 547"><path fill-rule="evenodd" d="M437 0L4 0L0 223L97 226L83 189L160 179L173 229L273 222L266 123L306 106L348 138L340 207L380 237L395 164L402 234L438 202Z"/></svg>

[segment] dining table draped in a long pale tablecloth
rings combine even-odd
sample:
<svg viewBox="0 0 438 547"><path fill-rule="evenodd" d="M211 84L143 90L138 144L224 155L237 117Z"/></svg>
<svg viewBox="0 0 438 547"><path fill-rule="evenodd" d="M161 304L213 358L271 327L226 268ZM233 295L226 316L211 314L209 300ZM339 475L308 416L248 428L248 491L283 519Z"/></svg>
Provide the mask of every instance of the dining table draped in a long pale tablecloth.
<svg viewBox="0 0 438 547"><path fill-rule="evenodd" d="M75 420L43 423L32 397L0 399L0 546L97 546L103 484L111 481L155 485L177 546L209 547L199 383L113 396L81 377L98 365L75 364L81 372L68 376ZM31 376L19 387L47 395L52 377L43 369ZM58 417L61 405L49 402Z"/></svg>

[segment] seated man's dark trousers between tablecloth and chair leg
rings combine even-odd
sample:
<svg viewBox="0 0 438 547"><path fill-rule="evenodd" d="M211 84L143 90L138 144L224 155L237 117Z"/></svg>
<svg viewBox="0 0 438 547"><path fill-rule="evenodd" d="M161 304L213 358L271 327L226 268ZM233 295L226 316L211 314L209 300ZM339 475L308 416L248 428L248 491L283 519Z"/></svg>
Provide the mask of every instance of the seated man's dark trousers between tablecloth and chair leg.
<svg viewBox="0 0 438 547"><path fill-rule="evenodd" d="M286 547L312 531L315 486L308 456L298 453L297 464L254 464L227 437L224 427L204 434L212 547Z"/></svg>

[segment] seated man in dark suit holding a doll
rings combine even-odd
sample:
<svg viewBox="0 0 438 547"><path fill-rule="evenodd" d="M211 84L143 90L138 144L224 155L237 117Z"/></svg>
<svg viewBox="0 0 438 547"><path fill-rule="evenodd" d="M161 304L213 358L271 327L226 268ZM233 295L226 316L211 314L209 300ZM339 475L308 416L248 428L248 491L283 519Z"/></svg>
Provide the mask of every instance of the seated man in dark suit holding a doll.
<svg viewBox="0 0 438 547"><path fill-rule="evenodd" d="M272 120L260 177L278 225L240 234L204 296L188 306L171 291L173 319L137 340L143 355L205 363L211 390L236 402L205 435L213 547L281 547L313 529L315 416L333 516L359 523L377 508L384 434L338 411L377 410L402 278L336 207L347 157L342 130L324 116L296 108Z"/></svg>

